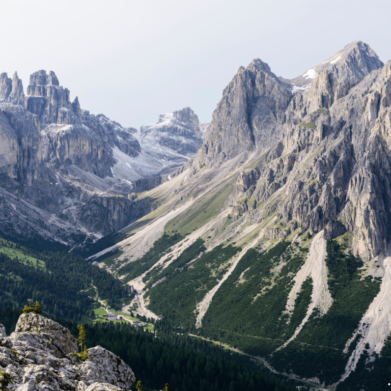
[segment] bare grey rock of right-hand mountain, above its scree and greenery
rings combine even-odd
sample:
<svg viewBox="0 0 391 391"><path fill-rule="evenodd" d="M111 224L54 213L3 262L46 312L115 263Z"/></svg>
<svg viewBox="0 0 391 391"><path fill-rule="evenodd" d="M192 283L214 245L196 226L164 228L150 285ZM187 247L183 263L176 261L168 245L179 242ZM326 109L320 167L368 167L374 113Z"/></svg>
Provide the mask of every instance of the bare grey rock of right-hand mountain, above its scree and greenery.
<svg viewBox="0 0 391 391"><path fill-rule="evenodd" d="M287 228L271 225L270 238L300 225L330 237L346 229L354 253L373 258L391 239L390 77L391 62L360 41L293 80L255 60L226 88L184 168L193 175L255 152L255 168L238 174L230 195L235 218L263 222L277 212Z"/></svg>

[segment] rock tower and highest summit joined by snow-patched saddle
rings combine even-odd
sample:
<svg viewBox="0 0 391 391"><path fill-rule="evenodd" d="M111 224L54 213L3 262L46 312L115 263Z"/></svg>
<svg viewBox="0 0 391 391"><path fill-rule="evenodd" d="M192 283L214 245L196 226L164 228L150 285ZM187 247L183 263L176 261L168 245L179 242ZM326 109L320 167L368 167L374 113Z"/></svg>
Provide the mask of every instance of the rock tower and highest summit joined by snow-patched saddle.
<svg viewBox="0 0 391 391"><path fill-rule="evenodd" d="M304 74L285 79L260 59L240 67L225 88L204 145L191 164L218 166L241 153L266 151L288 123L300 124L308 113L329 109L371 72L384 64L361 41L346 45Z"/></svg>

